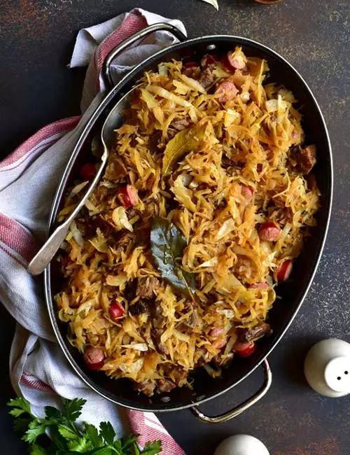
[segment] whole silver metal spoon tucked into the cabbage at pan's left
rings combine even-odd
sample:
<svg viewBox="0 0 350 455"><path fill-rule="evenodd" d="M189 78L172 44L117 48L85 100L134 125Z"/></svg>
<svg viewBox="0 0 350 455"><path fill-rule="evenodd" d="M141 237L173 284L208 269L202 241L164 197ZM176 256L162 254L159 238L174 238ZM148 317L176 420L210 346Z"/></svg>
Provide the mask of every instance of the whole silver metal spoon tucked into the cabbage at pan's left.
<svg viewBox="0 0 350 455"><path fill-rule="evenodd" d="M109 151L111 150L111 147L116 140L116 134L114 133L114 130L116 130L116 128L118 128L123 123L122 112L125 111L128 106L130 106L130 98L132 96L132 92L134 92L134 90L137 89L139 85L136 85L132 88L132 90L127 92L127 94L125 94L118 101L116 106L113 107L109 113L109 116L106 118L101 132L101 141L104 146L104 153L101 157L101 166L99 167L96 175L94 176L94 180L83 196L83 199L79 202L78 206L73 210L69 217L61 225L59 225L59 227L55 229L54 232L52 232L43 246L41 246L38 253L36 253L34 258L29 262L27 270L31 275L41 274L41 272L43 272L47 267L48 263L52 260L55 253L57 252L59 246L61 246L62 242L66 238L71 222L74 218L76 218L79 211L82 209L83 205L90 197L92 191L94 190L94 187L97 185L100 177L102 176L102 172L106 167L106 163L109 158Z"/></svg>

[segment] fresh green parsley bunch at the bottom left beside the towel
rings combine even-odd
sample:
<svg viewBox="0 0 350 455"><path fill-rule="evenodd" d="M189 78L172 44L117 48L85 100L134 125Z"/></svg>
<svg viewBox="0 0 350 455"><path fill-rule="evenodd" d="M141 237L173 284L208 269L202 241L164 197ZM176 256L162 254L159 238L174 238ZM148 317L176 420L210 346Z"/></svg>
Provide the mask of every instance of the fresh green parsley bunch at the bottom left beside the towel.
<svg viewBox="0 0 350 455"><path fill-rule="evenodd" d="M138 435L116 440L111 422L101 422L99 429L90 423L76 423L86 400L65 400L63 412L52 406L45 407L45 418L31 413L25 398L8 402L14 417L15 430L25 433L22 440L29 444L30 455L156 455L162 451L162 442L147 442L144 449L137 445ZM50 437L48 437L50 435Z"/></svg>

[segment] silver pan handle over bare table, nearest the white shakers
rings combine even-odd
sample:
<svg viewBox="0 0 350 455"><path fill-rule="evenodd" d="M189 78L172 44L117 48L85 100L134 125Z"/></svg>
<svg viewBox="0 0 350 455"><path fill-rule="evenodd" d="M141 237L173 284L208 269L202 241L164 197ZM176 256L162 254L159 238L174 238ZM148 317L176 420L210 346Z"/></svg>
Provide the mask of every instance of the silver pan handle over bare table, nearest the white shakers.
<svg viewBox="0 0 350 455"><path fill-rule="evenodd" d="M225 412L224 414L220 414L219 416L213 417L206 416L205 414L200 412L197 406L191 407L190 411L195 417L197 417L197 419L204 423L221 423L233 419L234 417L237 417L246 409L255 405L255 403L258 402L260 398L262 398L265 395L265 393L267 393L267 391L269 390L272 384L272 372L270 370L269 363L267 362L266 359L262 363L262 367L264 369L264 384L262 384L262 387L258 390L257 393L255 393L255 395L253 395L251 398L248 398L248 400L241 403L241 405L238 405L234 409L231 409L229 412Z"/></svg>

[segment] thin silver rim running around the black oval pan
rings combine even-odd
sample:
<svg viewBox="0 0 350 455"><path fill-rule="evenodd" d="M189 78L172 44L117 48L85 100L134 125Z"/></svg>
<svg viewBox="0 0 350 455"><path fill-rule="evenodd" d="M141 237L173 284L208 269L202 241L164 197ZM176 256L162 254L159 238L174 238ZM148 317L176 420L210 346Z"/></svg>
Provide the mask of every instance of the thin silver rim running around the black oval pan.
<svg viewBox="0 0 350 455"><path fill-rule="evenodd" d="M87 386L89 386L92 390L94 390L96 393L101 395L102 397L106 398L107 400L116 403L117 405L127 407L128 409L135 409L135 410L141 410L141 411L148 411L148 412L171 412L171 411L177 411L181 409L187 409L192 406L198 406L203 404L204 402L207 402L209 400L212 400L214 398L217 398L218 396L222 395L223 393L226 393L230 391L232 388L237 386L241 381L244 381L250 374L252 374L269 356L269 353L272 352L272 350L276 347L276 345L281 341L281 338L286 334L286 331L290 327L290 325L293 323L295 316L297 316L298 311L300 311L300 307L302 306L302 303L304 302L305 297L307 296L307 293L309 292L309 288L311 287L312 282L314 281L314 276L316 274L316 271L318 269L319 262L321 260L321 256L323 253L323 248L325 246L325 241L327 238L327 233L328 233L328 228L330 224L330 216L331 216L331 211L332 211L332 196L333 196L333 164L332 164L332 148L330 144L330 137L328 134L328 129L325 124L325 119L323 117L323 113L321 111L320 106L318 105L318 102L316 101L316 98L314 97L313 92L309 88L309 85L306 83L304 78L300 75L300 73L294 68L288 60L286 60L283 56L281 56L278 52L272 50L266 45L263 45L262 43L259 43L258 41L251 40L250 38L244 38L242 36L235 36L235 35L207 35L207 36L201 36L198 38L190 38L186 41L183 41L182 43L176 43L174 45L170 45L169 47L162 49L158 52L156 52L154 55L151 55L151 57L148 57L145 59L143 62L140 62L135 66L130 73L127 73L120 82L113 87L113 89L106 94L106 97L102 99L102 102L97 106L97 109L94 111L92 114L92 117L87 121L87 124L83 128L83 131L80 133L80 136L78 138L78 141L76 143L76 146L73 150L73 153L71 155L71 159L66 165L66 172L64 172L64 175L62 176L62 180L59 183L59 186L57 188L57 192L55 194L55 198L52 202L52 208L50 211L50 217L48 221L48 227L49 229L52 228L53 225L55 225L55 217L57 214L57 209L58 209L58 204L60 200L62 199L62 191L64 189L64 186L66 184L66 180L68 179L68 176L71 172L71 167L73 165L73 162L75 162L76 158L78 157L78 154L80 153L81 146L83 145L87 134L90 132L94 124L96 123L97 119L99 116L102 115L104 112L104 109L108 104L114 99L118 92L120 93L123 90L123 87L130 81L134 76L137 76L141 71L144 71L145 67L151 64L153 60L158 59L159 57L162 57L162 55L167 55L168 52L173 52L174 50L181 49L181 48L186 48L190 47L190 45L195 45L198 43L205 43L205 42L210 42L210 41L228 41L228 42L237 42L242 45L248 45L253 48L258 48L260 50L263 50L264 52L267 52L268 55L271 55L272 58L277 59L283 64L285 64L288 69L290 69L293 72L293 77L295 77L297 80L299 80L300 83L302 83L302 88L307 92L309 95L311 102L313 102L314 106L316 107L316 111L318 113L318 118L320 120L320 123L323 128L323 136L324 136L324 142L325 145L327 146L327 150L325 151L325 156L328 158L328 163L326 166L326 172L327 172L327 179L328 179L328 194L324 195L325 196L325 201L326 201L326 220L324 225L322 226L323 232L320 235L320 240L319 240L319 245L317 248L317 252L315 255L314 259L314 265L312 272L309 276L309 279L307 281L307 285L304 287L304 290L302 291L302 296L297 303L295 310L293 311L293 314L288 318L288 323L284 326L283 330L281 330L280 334L278 337L276 337L276 340L272 344L272 346L267 349L265 353L262 353L262 355L255 361L255 364L246 372L246 374L243 374L242 377L230 384L229 386L224 387L221 391L210 393L206 395L204 398L198 398L197 400L193 400L193 402L188 402L184 405L172 405L171 403L165 403L164 405L133 405L132 402L129 400L118 400L113 397L113 395L107 391L99 389L99 386L96 386L94 381L87 377L87 375L80 370L80 367L76 364L76 361L72 358L71 354L69 353L68 349L66 348L66 344L64 342L64 339L59 331L59 328L57 326L57 319L55 315L55 306L52 301L52 295L51 295L51 285L50 285L50 265L45 269L44 271L44 293L45 293L45 302L46 306L48 308L48 314L50 318L50 322L52 324L52 329L55 332L55 337L57 339L57 342L62 349L64 355L66 356L66 359L68 360L70 366L73 368L73 370L78 374L78 377L82 379ZM68 170L68 172L67 172Z"/></svg>

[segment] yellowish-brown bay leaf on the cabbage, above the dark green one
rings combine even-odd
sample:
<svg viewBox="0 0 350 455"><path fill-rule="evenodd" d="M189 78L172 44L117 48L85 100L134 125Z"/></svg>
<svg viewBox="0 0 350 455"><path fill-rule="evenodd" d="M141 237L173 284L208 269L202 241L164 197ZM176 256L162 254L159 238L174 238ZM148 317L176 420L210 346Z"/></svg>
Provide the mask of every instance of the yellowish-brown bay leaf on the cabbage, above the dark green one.
<svg viewBox="0 0 350 455"><path fill-rule="evenodd" d="M192 151L196 151L204 138L206 125L196 125L179 131L165 147L163 156L163 174L169 174L176 162Z"/></svg>

